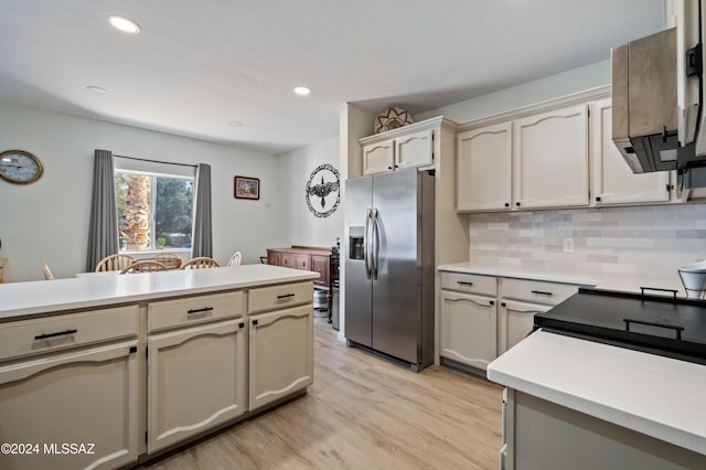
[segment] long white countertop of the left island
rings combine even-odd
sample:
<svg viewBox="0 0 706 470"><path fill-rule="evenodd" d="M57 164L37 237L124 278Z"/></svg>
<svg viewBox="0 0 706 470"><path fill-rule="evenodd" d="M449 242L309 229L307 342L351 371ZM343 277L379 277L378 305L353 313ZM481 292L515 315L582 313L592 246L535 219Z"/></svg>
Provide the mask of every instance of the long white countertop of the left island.
<svg viewBox="0 0 706 470"><path fill-rule="evenodd" d="M0 322L61 310L312 280L318 273L271 265L84 276L0 285Z"/></svg>

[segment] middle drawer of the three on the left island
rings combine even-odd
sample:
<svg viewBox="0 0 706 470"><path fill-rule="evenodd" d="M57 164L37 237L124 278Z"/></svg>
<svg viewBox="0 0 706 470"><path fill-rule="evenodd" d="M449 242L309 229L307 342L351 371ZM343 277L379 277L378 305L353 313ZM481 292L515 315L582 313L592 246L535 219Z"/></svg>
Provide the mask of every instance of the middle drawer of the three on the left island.
<svg viewBox="0 0 706 470"><path fill-rule="evenodd" d="M245 314L245 293L227 292L149 305L147 330L203 323L204 321Z"/></svg>

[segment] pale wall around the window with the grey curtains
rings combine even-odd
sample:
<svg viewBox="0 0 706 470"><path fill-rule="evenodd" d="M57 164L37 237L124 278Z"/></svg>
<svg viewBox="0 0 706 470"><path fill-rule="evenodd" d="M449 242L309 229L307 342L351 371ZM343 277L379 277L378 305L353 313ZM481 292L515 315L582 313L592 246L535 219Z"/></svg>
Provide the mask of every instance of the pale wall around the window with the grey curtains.
<svg viewBox="0 0 706 470"><path fill-rule="evenodd" d="M0 150L25 150L44 164L33 184L0 181L6 282L42 279L41 260L60 278L85 270L95 149L211 164L213 256L221 264L236 249L246 264L259 263L282 241L276 156L7 103L0 103ZM233 197L236 174L260 179L259 201Z"/></svg>

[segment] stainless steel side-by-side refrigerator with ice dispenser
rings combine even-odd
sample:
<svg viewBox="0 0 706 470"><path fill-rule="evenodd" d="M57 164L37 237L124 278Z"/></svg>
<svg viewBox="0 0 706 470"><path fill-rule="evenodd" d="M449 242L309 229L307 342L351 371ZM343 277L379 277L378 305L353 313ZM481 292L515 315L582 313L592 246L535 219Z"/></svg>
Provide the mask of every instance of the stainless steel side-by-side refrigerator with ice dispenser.
<svg viewBox="0 0 706 470"><path fill-rule="evenodd" d="M345 338L418 372L434 362L435 178L345 183Z"/></svg>

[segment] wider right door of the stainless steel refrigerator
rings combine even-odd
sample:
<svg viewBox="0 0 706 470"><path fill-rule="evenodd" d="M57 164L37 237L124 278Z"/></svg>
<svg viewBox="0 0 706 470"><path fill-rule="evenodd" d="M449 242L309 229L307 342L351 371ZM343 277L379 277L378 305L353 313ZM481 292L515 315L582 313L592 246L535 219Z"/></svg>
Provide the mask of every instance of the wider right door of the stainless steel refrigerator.
<svg viewBox="0 0 706 470"><path fill-rule="evenodd" d="M415 364L421 330L419 178L414 169L373 177L371 243L373 349Z"/></svg>

